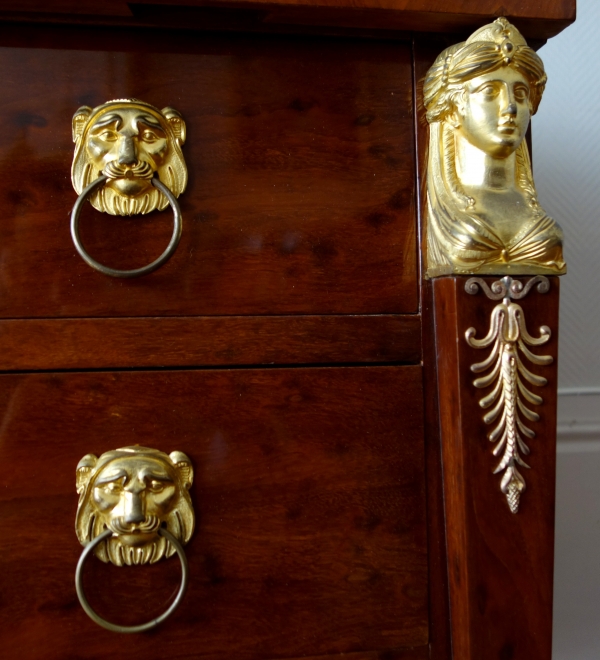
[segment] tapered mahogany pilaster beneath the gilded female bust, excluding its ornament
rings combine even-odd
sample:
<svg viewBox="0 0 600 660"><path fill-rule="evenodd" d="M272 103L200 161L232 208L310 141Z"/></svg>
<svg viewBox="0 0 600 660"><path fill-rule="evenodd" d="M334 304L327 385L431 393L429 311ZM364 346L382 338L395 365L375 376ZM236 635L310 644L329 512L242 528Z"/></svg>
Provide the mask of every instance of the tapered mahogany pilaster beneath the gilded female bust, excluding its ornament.
<svg viewBox="0 0 600 660"><path fill-rule="evenodd" d="M554 556L554 480L556 465L556 387L558 278L551 291L534 288L518 302L527 328L539 336L542 325L552 336L539 355L553 364L534 373L547 385L527 387L543 398L531 406L539 422L526 422L535 437L526 439L531 469L519 468L527 488L519 512L510 512L493 474L501 457L492 455L478 402L492 388L477 389L470 370L489 349L471 348L465 331L476 338L489 329L496 302L482 292L464 290L468 278L434 280L440 418L444 454L452 645L460 660L550 660L552 646L552 576ZM485 278L491 284L497 278ZM529 277L519 278L526 281ZM528 361L524 360L526 366Z"/></svg>

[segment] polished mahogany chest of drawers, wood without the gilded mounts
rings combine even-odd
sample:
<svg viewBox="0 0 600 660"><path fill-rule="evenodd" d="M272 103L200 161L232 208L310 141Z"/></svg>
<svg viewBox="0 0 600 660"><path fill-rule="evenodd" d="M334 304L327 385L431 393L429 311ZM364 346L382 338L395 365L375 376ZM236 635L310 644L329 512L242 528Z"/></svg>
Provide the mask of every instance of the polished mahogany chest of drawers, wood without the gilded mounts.
<svg viewBox="0 0 600 660"><path fill-rule="evenodd" d="M440 428L480 434L461 323L483 333L493 303L420 266L420 80L492 3L88 4L0 13L5 657L550 660L553 457L536 447L515 517L482 440L448 453ZM523 13L534 39L573 19L546 4ZM124 280L79 258L68 214L71 116L128 97L181 113L189 182L174 256ZM94 258L134 268L171 216L88 205L81 225ZM555 322L556 278L523 306ZM75 593L75 467L136 444L191 458L196 530L177 611L119 635ZM129 625L178 571L90 560L84 579Z"/></svg>

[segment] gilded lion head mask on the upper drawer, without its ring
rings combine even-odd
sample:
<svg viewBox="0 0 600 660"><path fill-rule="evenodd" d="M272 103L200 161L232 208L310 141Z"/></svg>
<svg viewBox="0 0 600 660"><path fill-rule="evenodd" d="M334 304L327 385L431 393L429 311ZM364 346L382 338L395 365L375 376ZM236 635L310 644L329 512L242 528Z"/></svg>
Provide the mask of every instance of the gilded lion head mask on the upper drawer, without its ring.
<svg viewBox="0 0 600 660"><path fill-rule="evenodd" d="M152 185L155 174L175 197L185 190L185 122L173 108L158 110L137 99L82 106L73 116L73 141L77 193L101 174L108 177L90 200L99 211L135 215L164 209L168 200Z"/></svg>

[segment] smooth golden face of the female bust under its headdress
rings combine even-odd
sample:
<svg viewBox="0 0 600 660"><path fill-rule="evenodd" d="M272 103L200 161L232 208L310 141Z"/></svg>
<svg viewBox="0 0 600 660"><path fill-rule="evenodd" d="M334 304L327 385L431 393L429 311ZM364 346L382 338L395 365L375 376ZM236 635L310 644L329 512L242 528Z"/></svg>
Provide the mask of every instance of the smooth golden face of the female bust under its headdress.
<svg viewBox="0 0 600 660"><path fill-rule="evenodd" d="M472 78L457 102L458 130L494 158L507 158L519 147L531 116L529 83L510 67Z"/></svg>

